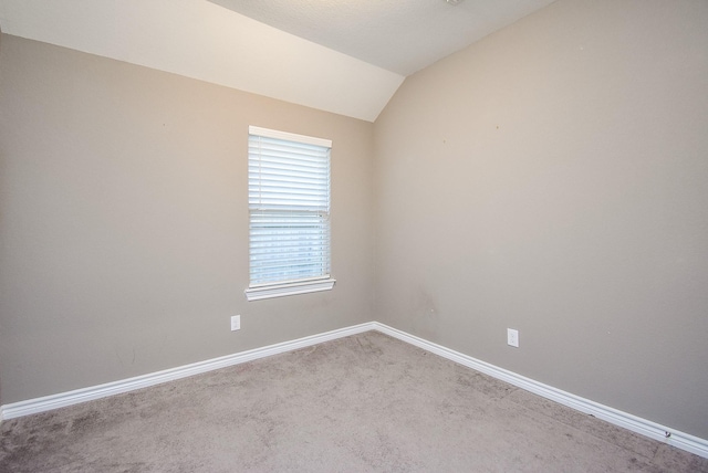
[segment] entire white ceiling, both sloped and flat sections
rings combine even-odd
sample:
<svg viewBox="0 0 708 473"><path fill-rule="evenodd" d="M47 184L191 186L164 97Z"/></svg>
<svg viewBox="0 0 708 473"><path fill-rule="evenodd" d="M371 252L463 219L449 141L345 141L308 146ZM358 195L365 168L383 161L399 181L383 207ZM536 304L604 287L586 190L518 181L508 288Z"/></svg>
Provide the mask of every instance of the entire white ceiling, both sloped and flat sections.
<svg viewBox="0 0 708 473"><path fill-rule="evenodd" d="M555 0L0 0L0 28L374 122L406 75Z"/></svg>

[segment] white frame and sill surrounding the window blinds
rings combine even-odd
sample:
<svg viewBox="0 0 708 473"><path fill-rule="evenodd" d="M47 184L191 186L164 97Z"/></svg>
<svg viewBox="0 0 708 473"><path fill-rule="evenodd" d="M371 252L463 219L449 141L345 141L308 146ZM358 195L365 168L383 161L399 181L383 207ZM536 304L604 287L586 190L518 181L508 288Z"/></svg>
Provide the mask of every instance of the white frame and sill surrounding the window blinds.
<svg viewBox="0 0 708 473"><path fill-rule="evenodd" d="M252 282L252 250L253 250L253 225L254 219L253 214L258 212L258 210L252 208L251 198L250 198L250 188L251 186L260 186L260 179L257 178L256 182L252 182L251 176L249 174L248 177L248 188L249 188L249 286L244 291L247 299L250 301L259 301L272 297L282 297L290 296L295 294L308 294L320 291L330 291L334 287L334 283L336 280L332 278L332 234L331 234L331 206L332 206L332 196L331 196L331 149L332 149L332 140L324 138L315 138L305 135L298 135L288 132L280 132L269 128L261 128L257 126L249 126L249 146L251 143L251 137L263 137L263 138L272 138L282 141L289 141L292 144L304 144L304 145L315 145L319 147L323 147L327 149L327 206L326 206L326 224L327 224L327 263L326 267L330 270L329 274L322 274L321 276L312 276L303 280L289 280L289 281L273 281L273 282L264 282L264 283L253 283ZM248 154L248 162L251 165L252 156L249 150ZM261 211L263 209L260 209ZM273 211L272 209L268 209Z"/></svg>

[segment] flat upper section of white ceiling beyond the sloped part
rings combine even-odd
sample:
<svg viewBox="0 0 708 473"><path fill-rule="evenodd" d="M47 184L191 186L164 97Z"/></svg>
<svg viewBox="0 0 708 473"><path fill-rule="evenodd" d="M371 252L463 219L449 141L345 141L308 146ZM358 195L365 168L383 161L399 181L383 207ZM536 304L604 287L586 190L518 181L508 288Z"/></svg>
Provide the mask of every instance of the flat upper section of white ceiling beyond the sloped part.
<svg viewBox="0 0 708 473"><path fill-rule="evenodd" d="M210 0L407 76L554 0Z"/></svg>

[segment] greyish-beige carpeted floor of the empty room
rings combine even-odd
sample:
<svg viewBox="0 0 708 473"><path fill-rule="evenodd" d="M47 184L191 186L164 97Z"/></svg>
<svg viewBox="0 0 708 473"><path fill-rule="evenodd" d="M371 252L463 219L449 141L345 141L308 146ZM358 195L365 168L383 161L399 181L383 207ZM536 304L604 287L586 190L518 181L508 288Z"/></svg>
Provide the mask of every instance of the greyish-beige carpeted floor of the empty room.
<svg viewBox="0 0 708 473"><path fill-rule="evenodd" d="M4 421L1 472L708 472L368 332Z"/></svg>

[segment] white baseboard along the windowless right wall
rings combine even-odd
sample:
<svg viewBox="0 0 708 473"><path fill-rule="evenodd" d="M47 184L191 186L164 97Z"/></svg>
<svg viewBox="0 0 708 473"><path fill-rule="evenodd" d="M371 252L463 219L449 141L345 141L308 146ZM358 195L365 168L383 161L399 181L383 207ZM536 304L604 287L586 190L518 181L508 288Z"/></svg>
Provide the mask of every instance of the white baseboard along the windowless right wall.
<svg viewBox="0 0 708 473"><path fill-rule="evenodd" d="M418 348L423 348L426 351L430 351L459 365L509 382L510 385L559 402L563 406L568 406L569 408L575 409L580 412L593 414L596 418L615 425L708 459L708 440L660 425L650 420L646 420L598 402L591 401L590 399L581 398L580 396L572 395L561 389L553 388L552 386L534 381L533 379L517 375L516 372L499 368L494 365L490 365L468 355L446 348L441 345L434 344L406 332L389 327L385 324L374 322L373 325L373 328L377 332L397 338L402 341L406 341Z"/></svg>

